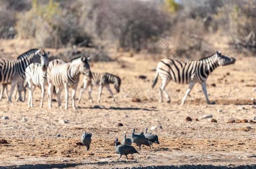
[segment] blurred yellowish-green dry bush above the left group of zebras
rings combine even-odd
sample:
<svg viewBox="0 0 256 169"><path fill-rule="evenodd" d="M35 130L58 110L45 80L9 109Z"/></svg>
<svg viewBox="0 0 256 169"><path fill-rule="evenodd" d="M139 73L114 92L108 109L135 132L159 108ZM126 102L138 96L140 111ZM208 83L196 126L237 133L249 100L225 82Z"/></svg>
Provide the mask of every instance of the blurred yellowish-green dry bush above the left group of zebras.
<svg viewBox="0 0 256 169"><path fill-rule="evenodd" d="M90 42L78 21L76 15L52 0L47 5L34 0L32 8L20 15L16 28L21 38L34 38L39 47L60 48Z"/></svg>

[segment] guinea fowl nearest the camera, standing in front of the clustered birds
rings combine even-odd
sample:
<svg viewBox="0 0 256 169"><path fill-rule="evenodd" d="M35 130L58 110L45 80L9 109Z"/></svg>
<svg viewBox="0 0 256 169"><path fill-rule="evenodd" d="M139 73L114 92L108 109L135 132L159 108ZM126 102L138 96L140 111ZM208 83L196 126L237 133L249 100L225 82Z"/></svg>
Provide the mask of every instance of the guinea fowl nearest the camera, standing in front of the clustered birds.
<svg viewBox="0 0 256 169"><path fill-rule="evenodd" d="M118 145L118 138L115 139L115 152L117 154L120 154L120 157L118 158L118 160L122 157L123 154L128 159L128 156L127 156L128 154L138 153L138 151L133 146L122 145L122 144Z"/></svg>

